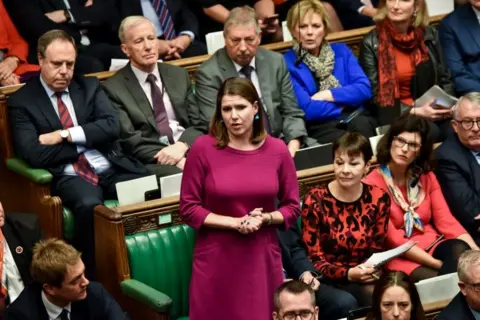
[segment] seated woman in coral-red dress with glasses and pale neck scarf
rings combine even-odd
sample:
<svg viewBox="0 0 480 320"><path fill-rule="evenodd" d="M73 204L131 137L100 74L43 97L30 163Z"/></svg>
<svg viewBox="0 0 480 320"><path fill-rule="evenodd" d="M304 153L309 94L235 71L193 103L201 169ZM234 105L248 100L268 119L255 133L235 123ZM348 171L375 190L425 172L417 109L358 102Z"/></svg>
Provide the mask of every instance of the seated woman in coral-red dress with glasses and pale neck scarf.
<svg viewBox="0 0 480 320"><path fill-rule="evenodd" d="M470 248L478 250L450 213L431 171L432 149L427 121L404 114L380 140L379 168L364 181L391 197L387 246L417 242L404 256L387 263L388 269L403 271L415 281L456 272L460 254Z"/></svg>

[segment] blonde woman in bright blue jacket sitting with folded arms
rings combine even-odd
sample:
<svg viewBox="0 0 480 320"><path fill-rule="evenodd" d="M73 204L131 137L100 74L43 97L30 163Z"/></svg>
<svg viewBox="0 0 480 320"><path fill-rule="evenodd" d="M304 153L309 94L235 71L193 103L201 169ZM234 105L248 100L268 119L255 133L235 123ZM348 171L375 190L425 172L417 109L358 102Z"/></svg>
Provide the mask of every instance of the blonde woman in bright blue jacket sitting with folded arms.
<svg viewBox="0 0 480 320"><path fill-rule="evenodd" d="M362 107L372 95L370 82L345 44L325 39L329 20L322 3L299 1L288 12L287 25L294 40L285 60L308 135L319 143L335 141L345 131L374 136L376 121Z"/></svg>

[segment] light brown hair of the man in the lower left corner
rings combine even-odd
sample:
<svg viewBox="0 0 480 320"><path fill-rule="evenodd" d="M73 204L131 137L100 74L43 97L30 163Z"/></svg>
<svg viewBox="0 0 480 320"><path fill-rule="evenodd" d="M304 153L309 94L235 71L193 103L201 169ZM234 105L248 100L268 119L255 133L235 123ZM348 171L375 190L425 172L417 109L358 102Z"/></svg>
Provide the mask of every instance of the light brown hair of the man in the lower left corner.
<svg viewBox="0 0 480 320"><path fill-rule="evenodd" d="M59 239L39 241L33 247L30 273L32 279L40 284L49 284L60 288L67 273L67 267L77 264L81 253Z"/></svg>

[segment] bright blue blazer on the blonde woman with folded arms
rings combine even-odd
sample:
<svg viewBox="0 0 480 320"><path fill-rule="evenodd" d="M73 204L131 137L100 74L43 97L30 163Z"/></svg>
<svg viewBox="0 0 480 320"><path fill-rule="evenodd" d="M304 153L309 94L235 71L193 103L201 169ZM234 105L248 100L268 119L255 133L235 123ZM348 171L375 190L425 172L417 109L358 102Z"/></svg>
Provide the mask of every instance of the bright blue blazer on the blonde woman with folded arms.
<svg viewBox="0 0 480 320"><path fill-rule="evenodd" d="M362 103L370 100L372 96L370 81L348 46L343 43L334 43L331 47L335 53L333 75L342 85L339 88L330 89L335 102L312 100L312 96L318 92L317 80L313 73L303 62L298 66L295 65L298 57L292 49L285 53L293 90L297 96L298 105L305 112L306 121L339 119L342 113L341 107L363 108Z"/></svg>

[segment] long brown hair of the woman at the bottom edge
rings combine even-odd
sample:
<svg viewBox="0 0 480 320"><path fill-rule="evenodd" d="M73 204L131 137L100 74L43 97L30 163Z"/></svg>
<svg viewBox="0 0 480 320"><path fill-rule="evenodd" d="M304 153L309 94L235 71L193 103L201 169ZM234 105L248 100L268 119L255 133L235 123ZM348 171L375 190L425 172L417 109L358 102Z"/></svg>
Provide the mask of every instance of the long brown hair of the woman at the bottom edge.
<svg viewBox="0 0 480 320"><path fill-rule="evenodd" d="M426 320L425 311L423 310L422 302L417 291L417 287L413 281L401 271L391 271L384 274L380 280L375 284L373 289L372 312L367 316L367 320L381 320L382 312L380 305L385 291L390 287L402 287L410 296L412 303L412 312L410 320Z"/></svg>

